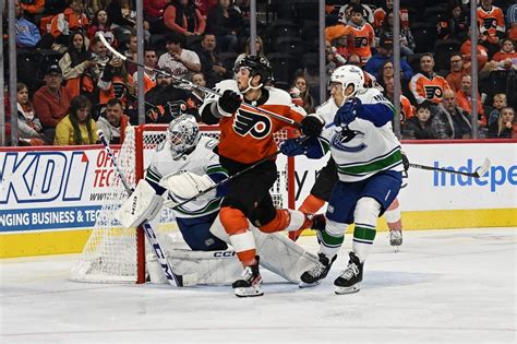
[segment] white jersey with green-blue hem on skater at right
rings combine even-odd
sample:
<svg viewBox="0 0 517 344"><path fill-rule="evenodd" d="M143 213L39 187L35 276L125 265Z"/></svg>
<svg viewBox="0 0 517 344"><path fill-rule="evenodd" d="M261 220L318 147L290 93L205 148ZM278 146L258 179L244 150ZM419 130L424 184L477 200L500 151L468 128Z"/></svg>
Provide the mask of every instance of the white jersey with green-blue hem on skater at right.
<svg viewBox="0 0 517 344"><path fill-rule="evenodd" d="M389 100L376 88L361 90L356 97L363 105L385 104L393 109ZM327 102L324 105L332 108L332 104L334 102ZM334 117L332 120L329 115L325 117L327 124L322 132L322 139L324 144L328 144L336 162L339 180L359 181L388 169L402 171L400 145L393 133L390 121L382 127L375 127L370 120L356 118L348 126L350 131L336 128L332 124L333 121Z"/></svg>

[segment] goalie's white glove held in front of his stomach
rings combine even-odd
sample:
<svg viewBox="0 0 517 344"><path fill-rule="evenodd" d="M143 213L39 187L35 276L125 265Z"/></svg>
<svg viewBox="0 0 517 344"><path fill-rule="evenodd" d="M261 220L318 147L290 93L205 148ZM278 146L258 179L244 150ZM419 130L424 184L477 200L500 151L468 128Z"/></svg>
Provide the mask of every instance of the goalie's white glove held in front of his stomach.
<svg viewBox="0 0 517 344"><path fill-rule="evenodd" d="M166 188L170 193L183 200L191 199L215 185L214 180L207 175L199 176L191 171L168 175L159 181L160 187Z"/></svg>

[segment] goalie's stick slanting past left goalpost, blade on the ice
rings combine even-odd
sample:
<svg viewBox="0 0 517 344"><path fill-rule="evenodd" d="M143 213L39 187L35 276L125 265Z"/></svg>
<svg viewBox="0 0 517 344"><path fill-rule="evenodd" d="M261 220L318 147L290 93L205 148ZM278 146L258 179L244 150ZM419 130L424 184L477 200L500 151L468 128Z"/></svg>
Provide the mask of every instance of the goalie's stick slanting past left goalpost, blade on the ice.
<svg viewBox="0 0 517 344"><path fill-rule="evenodd" d="M111 149L109 147L109 142L106 140L106 137L104 135L104 132L101 130L97 131L97 134L99 137L100 142L104 145L104 149L106 153L108 154L109 158L111 159L111 163L115 166L115 170L120 177L120 180L122 181L122 185L124 186L125 191L128 191L128 194L131 194L133 190L130 188L128 182L125 181L125 176L122 174L122 170L119 168L119 164L117 163L117 158L115 157L113 153L111 152ZM172 268L170 268L170 264L167 260L167 257L165 254L165 251L161 249L161 246L158 242L158 239L156 237L156 233L153 229L153 226L151 225L149 222L145 221L142 224L142 227L144 228L144 233L147 237L147 240L149 241L151 246L153 247L153 250L155 251L156 258L158 259L158 262L161 266L161 270L164 271L165 276L167 277L167 281L171 286L175 287L181 287L181 286L187 286L187 285L192 285L187 278L184 280L183 275L177 275L172 272Z"/></svg>

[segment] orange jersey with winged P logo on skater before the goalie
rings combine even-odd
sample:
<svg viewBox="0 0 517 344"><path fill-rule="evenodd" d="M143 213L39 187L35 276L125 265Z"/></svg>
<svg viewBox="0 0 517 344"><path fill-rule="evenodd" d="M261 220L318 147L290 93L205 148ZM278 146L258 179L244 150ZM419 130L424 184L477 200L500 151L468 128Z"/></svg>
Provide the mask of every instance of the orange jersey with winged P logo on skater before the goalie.
<svg viewBox="0 0 517 344"><path fill-rule="evenodd" d="M235 80L224 80L216 84L215 88L220 94L226 90L240 94ZM297 122L303 119L305 111L292 104L289 93L274 87L265 87L265 90L269 93L269 97L257 107ZM200 108L200 114L203 112L206 106L212 106L217 99L216 95L208 95ZM219 121L218 153L242 164L255 163L278 150L273 134L285 127L294 128L294 126L242 104L232 117L223 117Z"/></svg>

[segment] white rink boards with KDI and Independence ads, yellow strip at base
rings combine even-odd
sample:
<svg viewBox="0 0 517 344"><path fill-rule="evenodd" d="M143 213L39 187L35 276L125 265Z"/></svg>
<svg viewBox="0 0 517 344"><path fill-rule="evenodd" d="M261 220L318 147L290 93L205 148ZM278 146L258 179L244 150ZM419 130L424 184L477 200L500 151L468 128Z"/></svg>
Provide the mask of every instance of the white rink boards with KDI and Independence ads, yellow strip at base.
<svg viewBox="0 0 517 344"><path fill-rule="evenodd" d="M479 179L411 169L399 194L405 230L517 226L517 142L412 141L402 149L412 163L456 170L492 162ZM326 158L294 164L298 206ZM0 149L0 257L81 251L112 173L98 146Z"/></svg>

